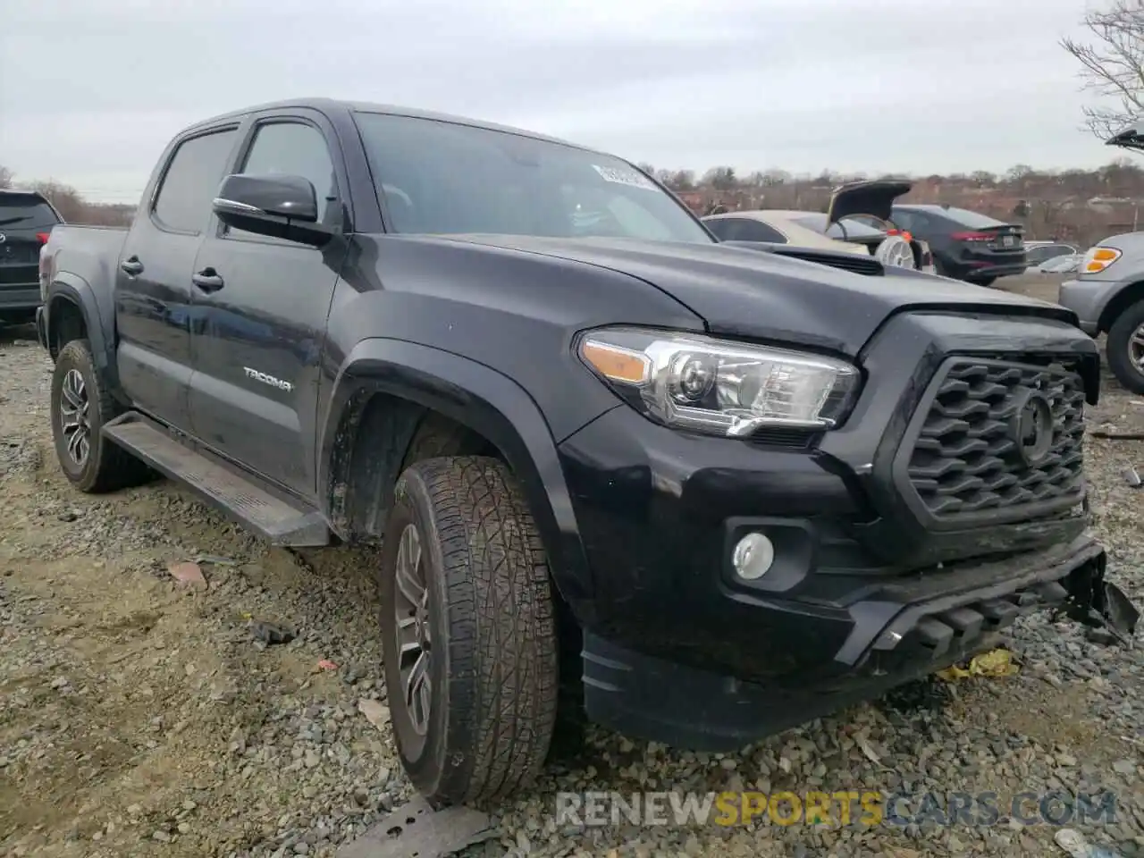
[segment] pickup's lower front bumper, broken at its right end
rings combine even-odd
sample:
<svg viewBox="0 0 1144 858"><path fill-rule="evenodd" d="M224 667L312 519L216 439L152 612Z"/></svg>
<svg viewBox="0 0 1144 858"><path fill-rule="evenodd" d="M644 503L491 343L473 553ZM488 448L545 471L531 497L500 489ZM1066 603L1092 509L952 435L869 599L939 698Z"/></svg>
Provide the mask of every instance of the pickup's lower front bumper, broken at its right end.
<svg viewBox="0 0 1144 858"><path fill-rule="evenodd" d="M1106 567L1104 549L1083 535L1020 558L885 581L849 605L851 633L833 659L768 682L654 658L588 631L585 705L591 720L619 732L733 750L991 649L1001 630L1035 611L1065 613L1130 644L1139 612L1105 580ZM803 629L792 649L812 645L816 618L805 605L788 610Z"/></svg>

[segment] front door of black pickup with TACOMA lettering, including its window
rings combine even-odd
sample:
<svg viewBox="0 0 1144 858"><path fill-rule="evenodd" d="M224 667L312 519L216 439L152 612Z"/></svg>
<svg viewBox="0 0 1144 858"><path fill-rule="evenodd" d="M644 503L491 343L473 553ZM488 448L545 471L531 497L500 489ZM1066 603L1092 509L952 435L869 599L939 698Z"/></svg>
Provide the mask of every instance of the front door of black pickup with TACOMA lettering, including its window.
<svg viewBox="0 0 1144 858"><path fill-rule="evenodd" d="M318 116L256 121L239 172L303 176L324 222L340 228L339 180ZM333 248L342 248L333 243ZM230 229L217 222L192 276L190 381L196 436L296 494L316 491L319 357L343 251Z"/></svg>

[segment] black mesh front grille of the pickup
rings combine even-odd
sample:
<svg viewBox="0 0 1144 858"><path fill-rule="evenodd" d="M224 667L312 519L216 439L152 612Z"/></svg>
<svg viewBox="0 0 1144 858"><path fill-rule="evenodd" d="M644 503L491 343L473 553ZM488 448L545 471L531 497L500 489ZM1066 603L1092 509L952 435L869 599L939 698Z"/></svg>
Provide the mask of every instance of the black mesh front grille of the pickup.
<svg viewBox="0 0 1144 858"><path fill-rule="evenodd" d="M1082 499L1085 389L1077 373L1060 364L955 358L930 390L908 480L934 518L991 511L1036 517ZM1022 427L1020 412L1036 394L1051 411L1051 440L1030 461L1018 439L1035 436L1028 422Z"/></svg>

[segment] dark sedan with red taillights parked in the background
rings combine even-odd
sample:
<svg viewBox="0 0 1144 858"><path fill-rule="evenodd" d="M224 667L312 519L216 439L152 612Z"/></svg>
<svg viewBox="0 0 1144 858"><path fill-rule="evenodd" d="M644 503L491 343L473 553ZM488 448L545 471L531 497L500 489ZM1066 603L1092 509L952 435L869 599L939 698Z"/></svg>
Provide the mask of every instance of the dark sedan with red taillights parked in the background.
<svg viewBox="0 0 1144 858"><path fill-rule="evenodd" d="M929 243L943 277L988 286L996 278L1024 273L1025 230L967 208L896 205L893 222Z"/></svg>

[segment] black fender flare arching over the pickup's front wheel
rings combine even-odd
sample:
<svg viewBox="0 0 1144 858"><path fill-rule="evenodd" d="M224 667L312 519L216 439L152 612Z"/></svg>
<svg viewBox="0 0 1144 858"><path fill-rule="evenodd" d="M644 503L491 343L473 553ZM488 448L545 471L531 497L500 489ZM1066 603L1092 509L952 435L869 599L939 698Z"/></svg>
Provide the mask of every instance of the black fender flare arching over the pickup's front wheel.
<svg viewBox="0 0 1144 858"><path fill-rule="evenodd" d="M342 362L318 440L318 496L328 503L339 443L356 431L355 403L374 392L432 408L479 432L521 480L561 596L590 622L593 582L556 440L516 381L448 351L391 339L359 342ZM359 410L358 410L359 415Z"/></svg>

